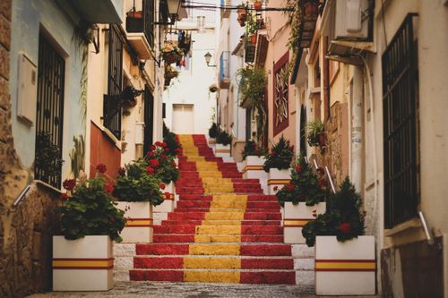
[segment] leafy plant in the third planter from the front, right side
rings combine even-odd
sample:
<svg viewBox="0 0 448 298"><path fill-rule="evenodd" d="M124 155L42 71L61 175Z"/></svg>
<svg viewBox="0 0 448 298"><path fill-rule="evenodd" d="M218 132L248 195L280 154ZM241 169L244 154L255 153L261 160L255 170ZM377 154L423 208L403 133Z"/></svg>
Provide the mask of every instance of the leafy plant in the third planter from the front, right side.
<svg viewBox="0 0 448 298"><path fill-rule="evenodd" d="M283 135L277 144L272 146L271 153L266 154L266 161L263 169L269 172L270 168L289 169L292 158L294 157L294 147L289 145Z"/></svg>

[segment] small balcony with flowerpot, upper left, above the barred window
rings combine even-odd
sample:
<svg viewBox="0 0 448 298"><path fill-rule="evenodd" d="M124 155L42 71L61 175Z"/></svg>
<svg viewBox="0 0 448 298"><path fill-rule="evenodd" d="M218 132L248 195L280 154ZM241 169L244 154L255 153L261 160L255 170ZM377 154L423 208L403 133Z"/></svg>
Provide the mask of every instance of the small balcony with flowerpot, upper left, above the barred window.
<svg viewBox="0 0 448 298"><path fill-rule="evenodd" d="M140 59L148 60L151 58L154 46L154 1L141 0L139 4L126 9L127 40Z"/></svg>

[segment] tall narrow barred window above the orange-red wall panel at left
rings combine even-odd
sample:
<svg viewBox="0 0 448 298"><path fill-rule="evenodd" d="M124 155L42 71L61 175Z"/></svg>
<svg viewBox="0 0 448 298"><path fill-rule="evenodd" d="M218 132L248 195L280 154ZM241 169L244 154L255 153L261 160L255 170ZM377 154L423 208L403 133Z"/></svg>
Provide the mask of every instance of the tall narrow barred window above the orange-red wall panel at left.
<svg viewBox="0 0 448 298"><path fill-rule="evenodd" d="M104 126L119 140L121 107L117 97L123 90L123 41L116 25L108 33L108 96L104 97Z"/></svg>

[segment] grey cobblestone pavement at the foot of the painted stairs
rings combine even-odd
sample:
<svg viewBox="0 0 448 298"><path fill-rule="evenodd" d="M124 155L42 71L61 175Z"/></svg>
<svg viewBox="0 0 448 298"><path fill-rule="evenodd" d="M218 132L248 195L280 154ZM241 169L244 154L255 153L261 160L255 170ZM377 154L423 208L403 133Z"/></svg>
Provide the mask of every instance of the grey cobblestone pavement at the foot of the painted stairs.
<svg viewBox="0 0 448 298"><path fill-rule="evenodd" d="M196 283L157 283L157 282L133 282L116 283L114 289L108 292L54 292L46 294L33 294L29 298L78 298L78 297L120 297L120 298L313 298L326 297L315 296L313 287L299 285L245 285L245 284L196 284ZM332 296L342 297L342 296ZM363 298L363 296L357 296ZM372 298L375 296L366 296Z"/></svg>

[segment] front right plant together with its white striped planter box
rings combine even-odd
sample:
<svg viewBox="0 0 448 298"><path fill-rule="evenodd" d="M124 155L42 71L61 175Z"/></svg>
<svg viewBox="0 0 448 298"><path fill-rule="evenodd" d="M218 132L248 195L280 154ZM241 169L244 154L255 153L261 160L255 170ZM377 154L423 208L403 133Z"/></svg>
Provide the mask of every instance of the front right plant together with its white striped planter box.
<svg viewBox="0 0 448 298"><path fill-rule="evenodd" d="M375 294L375 237L364 235L361 205L347 177L326 212L303 227L306 244L315 244L316 294Z"/></svg>

